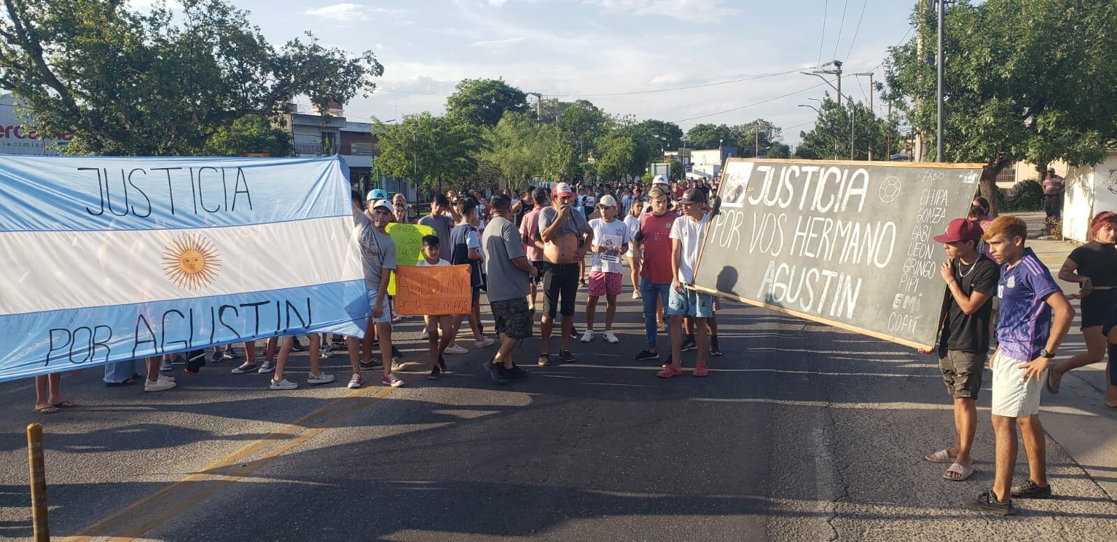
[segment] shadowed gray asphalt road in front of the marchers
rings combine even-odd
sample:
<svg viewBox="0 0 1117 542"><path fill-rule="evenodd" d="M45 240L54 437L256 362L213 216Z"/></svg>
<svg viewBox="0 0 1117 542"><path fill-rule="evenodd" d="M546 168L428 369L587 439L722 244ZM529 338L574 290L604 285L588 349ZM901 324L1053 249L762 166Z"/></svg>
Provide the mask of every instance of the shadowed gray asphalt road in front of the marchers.
<svg viewBox="0 0 1117 542"><path fill-rule="evenodd" d="M437 383L355 391L344 356L325 387L295 357L292 391L229 361L157 394L89 369L63 379L80 407L51 416L30 412L30 381L0 385L0 538L31 534L23 428L39 420L58 539L1113 540L1117 504L1054 442L1058 499L1010 517L957 504L992 483L989 372L977 472L948 482L922 459L953 438L930 358L726 303L709 377L662 380L631 359L637 303L621 343L572 339L575 364L534 367L526 341L533 375L502 388L481 374L491 348L449 357ZM399 329L424 359L419 322Z"/></svg>

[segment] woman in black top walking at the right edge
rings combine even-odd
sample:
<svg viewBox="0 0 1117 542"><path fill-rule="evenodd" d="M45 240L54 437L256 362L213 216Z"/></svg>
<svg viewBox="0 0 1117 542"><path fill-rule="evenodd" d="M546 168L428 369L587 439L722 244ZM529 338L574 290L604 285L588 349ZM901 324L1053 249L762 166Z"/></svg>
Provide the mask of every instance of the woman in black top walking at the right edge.
<svg viewBox="0 0 1117 542"><path fill-rule="evenodd" d="M1048 371L1047 387L1052 394L1059 393L1062 376L1105 359L1106 337L1101 325L1106 312L1117 304L1117 214L1105 211L1090 221L1090 242L1075 249L1067 257L1059 280L1077 282L1078 293L1069 299L1081 300L1082 337L1086 352L1079 354Z"/></svg>

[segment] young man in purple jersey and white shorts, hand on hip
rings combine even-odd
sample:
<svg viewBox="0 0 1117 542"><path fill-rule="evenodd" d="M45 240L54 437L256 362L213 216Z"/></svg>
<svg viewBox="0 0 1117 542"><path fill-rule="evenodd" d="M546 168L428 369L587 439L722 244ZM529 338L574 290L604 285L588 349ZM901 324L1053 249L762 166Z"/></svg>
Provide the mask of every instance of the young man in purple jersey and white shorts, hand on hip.
<svg viewBox="0 0 1117 542"><path fill-rule="evenodd" d="M993 432L996 434L996 474L993 487L963 505L982 512L1015 512L1011 497L1050 499L1047 480L1047 443L1040 424L1040 393L1046 371L1075 319L1075 309L1035 253L1024 248L1028 224L999 216L989 225L985 242L1001 264L997 298L1000 346L990 360L993 370ZM1012 486L1016 463L1016 426L1028 453L1028 480ZM1010 496L1011 495L1011 496Z"/></svg>

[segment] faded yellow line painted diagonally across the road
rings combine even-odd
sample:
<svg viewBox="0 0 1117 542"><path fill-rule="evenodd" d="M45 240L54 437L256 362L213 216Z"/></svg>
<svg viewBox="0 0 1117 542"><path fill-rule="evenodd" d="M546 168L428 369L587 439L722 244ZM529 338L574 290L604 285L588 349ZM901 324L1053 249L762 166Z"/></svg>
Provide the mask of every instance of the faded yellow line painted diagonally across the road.
<svg viewBox="0 0 1117 542"><path fill-rule="evenodd" d="M112 536L108 540L113 542L124 542L140 538L155 525L165 523L166 520L179 515L183 511L190 510L195 504L211 497L225 486L259 470L271 459L314 438L326 429L333 428L337 422L341 422L343 418L352 415L355 409L363 408L367 403L388 396L388 394L394 388L381 388L375 394L369 395L370 391L376 389L378 388L375 387L367 387L341 397L333 403L303 416L297 422L287 425L284 428L251 444L242 446L241 448L213 463L210 463L200 472L191 474L151 495L147 495L146 497L132 503L124 510L121 510L120 512L116 512L115 514L80 530L74 536L65 540L69 542L89 542L94 539L109 536L108 533L121 529L132 520L135 520L137 516L144 517L146 521L128 529L117 536ZM364 398L360 405L356 405L356 408L347 408L352 406L347 399L361 398L362 396L364 396ZM337 410L342 410L343 408L343 412L337 413ZM325 419L323 419L319 427L306 427L307 425L311 425L322 418ZM239 468L236 468L228 474L222 474L220 472L232 467L233 465L240 463L241 459L251 457L261 449L283 439L288 441L259 458L241 465ZM210 481L213 483L207 484L207 486L195 491L198 483ZM156 511L155 509L165 510Z"/></svg>

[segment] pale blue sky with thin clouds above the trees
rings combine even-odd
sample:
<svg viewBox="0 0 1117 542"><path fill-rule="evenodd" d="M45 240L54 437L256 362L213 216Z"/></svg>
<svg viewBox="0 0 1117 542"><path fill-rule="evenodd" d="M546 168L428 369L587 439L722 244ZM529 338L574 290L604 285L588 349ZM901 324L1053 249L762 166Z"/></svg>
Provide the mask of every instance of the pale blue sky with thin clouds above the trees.
<svg viewBox="0 0 1117 542"><path fill-rule="evenodd" d="M352 120L371 116L388 120L397 112L441 113L446 94L460 79L503 77L525 91L589 99L611 114L677 122L684 129L704 122L733 125L763 117L787 128L789 143L798 143L799 132L809 129L814 118L813 110L798 106L817 105L808 98L821 98L829 88L796 70L837 58L846 61L847 72L876 68L879 80L886 49L908 33L915 4L915 0L231 1L250 11L251 21L274 43L309 30L328 46L373 50L384 75L369 98L345 107ZM785 71L791 72L753 78ZM748 80L710 85L738 79ZM860 78L860 86L855 79L843 78L843 93L866 100L868 78ZM648 93L693 86L700 87ZM634 91L643 94L618 94Z"/></svg>

